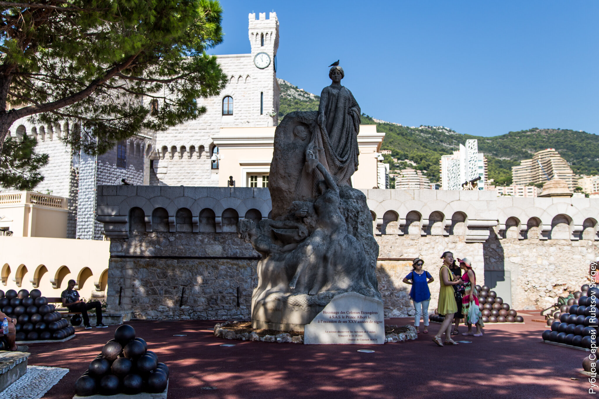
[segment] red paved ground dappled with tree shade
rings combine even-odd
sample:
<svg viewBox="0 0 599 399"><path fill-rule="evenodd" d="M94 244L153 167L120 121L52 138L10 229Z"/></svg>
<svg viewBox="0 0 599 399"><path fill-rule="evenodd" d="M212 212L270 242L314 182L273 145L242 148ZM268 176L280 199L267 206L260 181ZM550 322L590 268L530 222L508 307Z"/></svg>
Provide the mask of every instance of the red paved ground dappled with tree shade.
<svg viewBox="0 0 599 399"><path fill-rule="evenodd" d="M540 342L544 324L492 325L473 343L438 348L432 333L385 345L298 345L217 339L213 321L134 321L171 370L168 398L580 398L588 352ZM538 316L536 318L539 318ZM408 324L391 319L389 324ZM74 395L74 382L116 326L78 330L64 343L32 345L29 364L69 368L44 398ZM465 331L465 327L461 327ZM187 334L173 337L173 334ZM222 343L236 343L225 348ZM374 349L373 354L356 352ZM571 377L579 380L571 380ZM215 391L201 389L216 386Z"/></svg>

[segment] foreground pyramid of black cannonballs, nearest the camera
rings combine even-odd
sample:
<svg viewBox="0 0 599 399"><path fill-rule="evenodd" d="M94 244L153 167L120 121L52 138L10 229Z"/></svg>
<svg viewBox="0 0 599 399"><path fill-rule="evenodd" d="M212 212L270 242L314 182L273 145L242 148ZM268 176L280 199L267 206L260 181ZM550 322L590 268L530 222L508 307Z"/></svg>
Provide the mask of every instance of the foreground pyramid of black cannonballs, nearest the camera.
<svg viewBox="0 0 599 399"><path fill-rule="evenodd" d="M158 363L146 341L135 337L131 325L123 324L75 382L75 392L79 396L159 393L167 388L168 374L167 365Z"/></svg>

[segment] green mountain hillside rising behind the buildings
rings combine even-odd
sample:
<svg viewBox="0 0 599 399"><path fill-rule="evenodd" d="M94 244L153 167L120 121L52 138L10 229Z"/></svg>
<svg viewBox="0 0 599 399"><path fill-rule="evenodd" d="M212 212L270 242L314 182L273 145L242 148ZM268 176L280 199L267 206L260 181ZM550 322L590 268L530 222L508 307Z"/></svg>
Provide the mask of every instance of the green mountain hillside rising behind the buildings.
<svg viewBox="0 0 599 399"><path fill-rule="evenodd" d="M281 87L279 120L292 111L318 109L319 96L298 89L288 81L279 79ZM567 129L539 129L533 127L519 132L509 132L494 137L471 136L457 133L443 126L402 126L362 114L363 124L376 124L377 131L387 133L382 149L391 150L385 156L392 170L410 167L401 160L415 162L431 182L439 181L439 160L442 155L458 150L467 139L478 139L479 151L485 154L489 165L489 178L498 185L512 183L512 166L530 159L536 151L555 148L580 175L599 174L599 136ZM399 162L395 163L392 158Z"/></svg>

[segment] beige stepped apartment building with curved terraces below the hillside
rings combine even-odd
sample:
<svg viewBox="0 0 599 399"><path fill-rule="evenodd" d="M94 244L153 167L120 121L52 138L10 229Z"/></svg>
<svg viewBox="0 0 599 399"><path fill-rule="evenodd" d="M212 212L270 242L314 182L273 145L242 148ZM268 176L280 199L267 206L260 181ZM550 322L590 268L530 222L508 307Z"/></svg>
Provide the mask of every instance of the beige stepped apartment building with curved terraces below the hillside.
<svg viewBox="0 0 599 399"><path fill-rule="evenodd" d="M564 180L570 191L574 191L577 184L572 169L555 148L537 151L533 159L525 159L519 166L512 166L512 182L515 185L543 184L552 179Z"/></svg>

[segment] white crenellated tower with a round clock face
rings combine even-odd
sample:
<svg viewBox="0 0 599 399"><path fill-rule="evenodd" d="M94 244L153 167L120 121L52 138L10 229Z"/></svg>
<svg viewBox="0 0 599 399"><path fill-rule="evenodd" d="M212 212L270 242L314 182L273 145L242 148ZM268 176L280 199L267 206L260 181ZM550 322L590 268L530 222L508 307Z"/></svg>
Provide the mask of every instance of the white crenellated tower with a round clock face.
<svg viewBox="0 0 599 399"><path fill-rule="evenodd" d="M252 47L253 98L252 108L267 126L277 126L279 112L279 83L277 83L277 49L279 48L279 20L277 13L249 14L249 39ZM255 78L254 78L255 77Z"/></svg>

